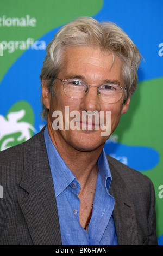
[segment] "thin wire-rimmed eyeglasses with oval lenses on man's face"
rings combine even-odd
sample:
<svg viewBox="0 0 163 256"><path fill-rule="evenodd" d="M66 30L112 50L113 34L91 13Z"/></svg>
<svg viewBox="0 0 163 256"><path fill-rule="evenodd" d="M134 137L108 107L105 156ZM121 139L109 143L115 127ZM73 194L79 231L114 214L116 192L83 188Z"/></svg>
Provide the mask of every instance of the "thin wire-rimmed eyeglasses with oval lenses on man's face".
<svg viewBox="0 0 163 256"><path fill-rule="evenodd" d="M64 93L66 96L72 99L82 99L89 91L89 87L97 87L97 94L99 99L105 103L117 103L122 99L123 92L126 90L126 87L121 87L120 85L115 85L112 83L104 84L101 86L87 85L82 80L78 79L68 79L62 80L58 79L63 83Z"/></svg>

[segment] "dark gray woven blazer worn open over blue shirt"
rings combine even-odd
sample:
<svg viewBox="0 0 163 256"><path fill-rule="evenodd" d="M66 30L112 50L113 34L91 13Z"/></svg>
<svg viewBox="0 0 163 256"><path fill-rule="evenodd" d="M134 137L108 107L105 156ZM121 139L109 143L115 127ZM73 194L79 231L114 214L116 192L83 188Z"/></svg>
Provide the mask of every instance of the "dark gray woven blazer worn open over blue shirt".
<svg viewBox="0 0 163 256"><path fill-rule="evenodd" d="M108 157L119 245L156 245L152 182ZM0 245L61 245L53 180L43 130L0 152Z"/></svg>

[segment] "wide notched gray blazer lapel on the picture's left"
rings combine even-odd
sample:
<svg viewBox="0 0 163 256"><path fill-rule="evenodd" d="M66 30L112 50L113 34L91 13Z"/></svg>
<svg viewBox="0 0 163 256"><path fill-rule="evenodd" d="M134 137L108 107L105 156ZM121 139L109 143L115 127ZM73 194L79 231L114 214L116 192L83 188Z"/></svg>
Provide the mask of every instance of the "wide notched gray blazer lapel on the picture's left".
<svg viewBox="0 0 163 256"><path fill-rule="evenodd" d="M24 144L24 173L20 186L29 193L18 203L34 245L61 245L57 204L43 130Z"/></svg>

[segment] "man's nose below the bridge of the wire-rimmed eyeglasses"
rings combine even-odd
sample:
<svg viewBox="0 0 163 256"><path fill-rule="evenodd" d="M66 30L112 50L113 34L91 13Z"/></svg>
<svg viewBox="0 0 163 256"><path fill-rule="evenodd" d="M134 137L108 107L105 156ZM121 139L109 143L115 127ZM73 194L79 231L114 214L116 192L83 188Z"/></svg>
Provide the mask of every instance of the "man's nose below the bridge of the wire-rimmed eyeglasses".
<svg viewBox="0 0 163 256"><path fill-rule="evenodd" d="M82 99L80 108L85 111L100 111L100 102L98 97L97 86L90 86L89 91Z"/></svg>

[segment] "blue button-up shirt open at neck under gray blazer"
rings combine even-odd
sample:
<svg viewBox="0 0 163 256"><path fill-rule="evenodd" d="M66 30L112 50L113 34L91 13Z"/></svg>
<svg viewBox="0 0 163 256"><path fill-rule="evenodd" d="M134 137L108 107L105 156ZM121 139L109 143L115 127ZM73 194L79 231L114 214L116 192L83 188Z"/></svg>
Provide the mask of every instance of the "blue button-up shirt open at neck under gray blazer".
<svg viewBox="0 0 163 256"><path fill-rule="evenodd" d="M112 211L114 198L109 194L112 180L104 150L98 159L98 177L92 217L86 232L79 222L80 184L61 158L45 128L45 144L52 172L62 245L117 245Z"/></svg>

